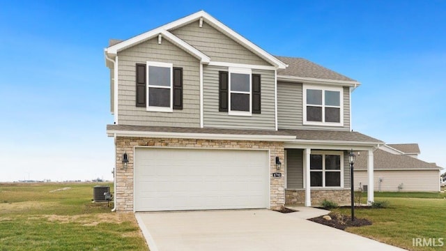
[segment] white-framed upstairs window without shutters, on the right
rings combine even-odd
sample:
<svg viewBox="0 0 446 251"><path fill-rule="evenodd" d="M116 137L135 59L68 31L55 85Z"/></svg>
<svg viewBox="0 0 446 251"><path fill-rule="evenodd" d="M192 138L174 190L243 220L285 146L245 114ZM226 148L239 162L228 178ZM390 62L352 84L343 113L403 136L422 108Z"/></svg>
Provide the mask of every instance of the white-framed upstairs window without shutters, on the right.
<svg viewBox="0 0 446 251"><path fill-rule="evenodd" d="M342 126L342 87L303 86L304 125Z"/></svg>

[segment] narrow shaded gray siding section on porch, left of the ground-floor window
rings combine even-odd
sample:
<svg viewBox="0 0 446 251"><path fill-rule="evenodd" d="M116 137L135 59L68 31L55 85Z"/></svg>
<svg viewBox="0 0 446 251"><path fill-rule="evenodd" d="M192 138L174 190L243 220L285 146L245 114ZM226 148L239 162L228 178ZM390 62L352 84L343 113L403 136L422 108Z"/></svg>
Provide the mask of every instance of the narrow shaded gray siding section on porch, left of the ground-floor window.
<svg viewBox="0 0 446 251"><path fill-rule="evenodd" d="M286 150L286 188L304 187L302 149Z"/></svg>

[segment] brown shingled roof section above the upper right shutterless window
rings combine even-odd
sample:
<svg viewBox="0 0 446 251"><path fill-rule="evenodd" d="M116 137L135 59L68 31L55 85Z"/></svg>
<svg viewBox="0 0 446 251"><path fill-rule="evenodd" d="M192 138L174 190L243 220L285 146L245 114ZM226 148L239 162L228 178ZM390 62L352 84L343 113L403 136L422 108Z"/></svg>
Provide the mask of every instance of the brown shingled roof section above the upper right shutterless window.
<svg viewBox="0 0 446 251"><path fill-rule="evenodd" d="M346 77L336 73L328 68L308 61L307 59L294 58L289 56L276 56L277 59L286 63L286 69L277 70L277 79L279 80L301 80L303 82L321 81L321 79L329 80L330 82L339 82L339 84L359 85L355 79ZM334 81L333 81L334 80Z"/></svg>

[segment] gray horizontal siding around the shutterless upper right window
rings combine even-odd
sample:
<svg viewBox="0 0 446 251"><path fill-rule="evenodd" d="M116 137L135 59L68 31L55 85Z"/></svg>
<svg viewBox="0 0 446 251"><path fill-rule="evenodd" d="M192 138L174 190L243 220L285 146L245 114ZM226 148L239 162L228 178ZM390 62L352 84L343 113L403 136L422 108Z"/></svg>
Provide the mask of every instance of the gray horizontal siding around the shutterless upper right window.
<svg viewBox="0 0 446 251"><path fill-rule="evenodd" d="M277 82L277 127L279 129L350 130L350 90L344 87L344 126L304 126L302 84Z"/></svg>

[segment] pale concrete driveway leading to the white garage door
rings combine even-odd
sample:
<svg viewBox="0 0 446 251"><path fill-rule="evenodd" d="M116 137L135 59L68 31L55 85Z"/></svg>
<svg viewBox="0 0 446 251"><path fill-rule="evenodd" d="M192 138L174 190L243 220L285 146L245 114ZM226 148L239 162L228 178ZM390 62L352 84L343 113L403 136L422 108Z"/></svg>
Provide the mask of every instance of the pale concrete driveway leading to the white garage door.
<svg viewBox="0 0 446 251"><path fill-rule="evenodd" d="M325 212L302 209L136 213L136 218L151 251L402 250L305 220Z"/></svg>

